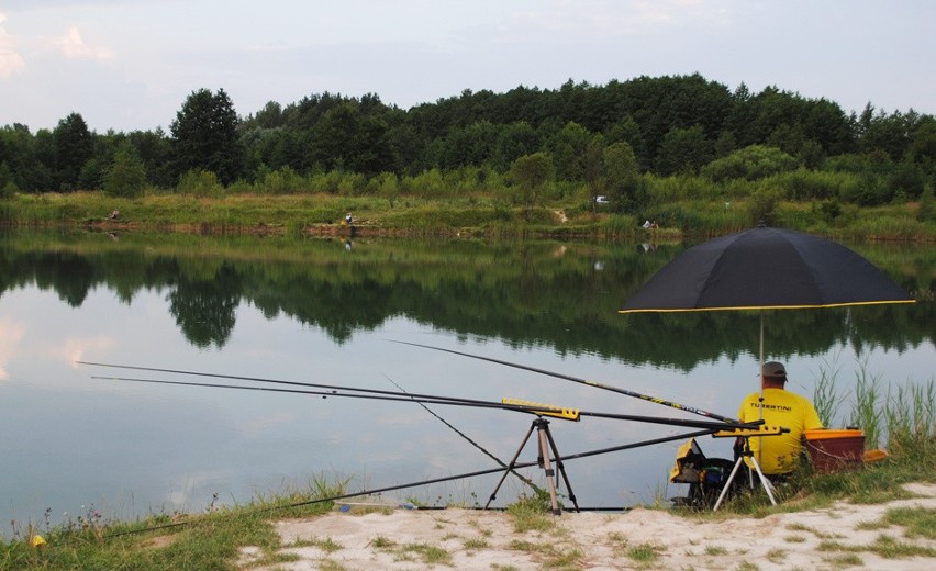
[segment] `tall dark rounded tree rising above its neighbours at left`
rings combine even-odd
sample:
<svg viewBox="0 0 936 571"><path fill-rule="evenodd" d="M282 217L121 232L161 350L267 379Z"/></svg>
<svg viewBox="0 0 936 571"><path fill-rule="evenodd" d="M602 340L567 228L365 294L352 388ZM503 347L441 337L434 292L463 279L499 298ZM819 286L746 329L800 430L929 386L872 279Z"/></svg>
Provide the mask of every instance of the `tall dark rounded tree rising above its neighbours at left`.
<svg viewBox="0 0 936 571"><path fill-rule="evenodd" d="M193 91L170 125L176 175L210 170L224 184L236 180L244 161L237 123L234 104L223 89Z"/></svg>

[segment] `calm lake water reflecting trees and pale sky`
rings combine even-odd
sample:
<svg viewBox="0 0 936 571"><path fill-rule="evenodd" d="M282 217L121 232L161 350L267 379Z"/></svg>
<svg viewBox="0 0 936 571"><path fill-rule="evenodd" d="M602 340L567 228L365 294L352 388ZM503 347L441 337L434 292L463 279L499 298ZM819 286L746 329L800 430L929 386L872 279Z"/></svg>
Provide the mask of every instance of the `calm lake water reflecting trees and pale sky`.
<svg viewBox="0 0 936 571"><path fill-rule="evenodd" d="M497 468L413 403L134 383L221 382L77 361L261 377L583 411L694 418L675 408L450 354L494 357L724 416L757 390L756 313L616 310L681 246L404 243L18 234L0 238L0 515L53 522L191 512L315 478L353 491ZM923 300L909 306L768 312L767 358L812 395L838 371L847 423L856 370L934 379L932 248L855 247ZM239 384L247 384L242 381ZM522 413L431 405L503 461ZM553 421L562 455L688 432L586 417ZM535 459L535 439L520 461ZM583 506L626 506L667 488L681 440L570 461ZM705 437L710 456L729 443ZM542 470L525 471L542 481ZM479 502L500 473L393 492ZM564 488L564 486L562 486ZM509 478L495 505L523 485ZM66 515L67 514L67 515ZM8 529L9 527L5 527ZM5 534L4 533L4 534Z"/></svg>

